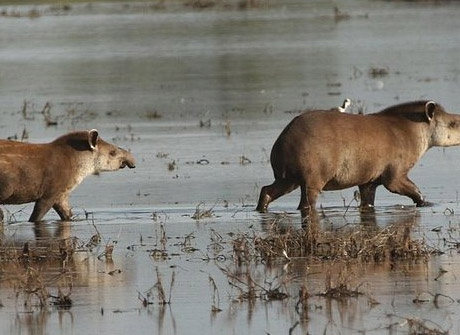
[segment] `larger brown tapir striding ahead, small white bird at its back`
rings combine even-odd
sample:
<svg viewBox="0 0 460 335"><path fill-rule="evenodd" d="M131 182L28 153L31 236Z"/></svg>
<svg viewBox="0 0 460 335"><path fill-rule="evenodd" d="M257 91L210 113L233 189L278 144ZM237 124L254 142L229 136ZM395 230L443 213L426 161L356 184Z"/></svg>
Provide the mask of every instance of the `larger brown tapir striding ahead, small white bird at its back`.
<svg viewBox="0 0 460 335"><path fill-rule="evenodd" d="M407 176L433 146L460 144L460 115L433 101L391 106L381 112L353 115L314 110L294 118L273 145L273 184L260 192L257 210L300 186L298 209L309 213L322 190L358 186L361 207L374 205L379 185L426 204Z"/></svg>

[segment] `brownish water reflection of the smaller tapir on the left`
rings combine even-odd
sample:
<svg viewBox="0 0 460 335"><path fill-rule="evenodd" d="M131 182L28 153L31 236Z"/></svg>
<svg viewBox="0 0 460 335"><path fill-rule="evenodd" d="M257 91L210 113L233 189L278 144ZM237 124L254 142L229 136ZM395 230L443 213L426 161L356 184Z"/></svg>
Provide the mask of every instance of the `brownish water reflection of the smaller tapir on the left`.
<svg viewBox="0 0 460 335"><path fill-rule="evenodd" d="M101 237L95 236L76 238L71 222L62 221L5 227L0 241L0 302L16 313L10 333L47 334L51 319L62 331L72 329L75 291L79 296L80 288L110 288L125 280L111 255L101 251ZM96 295L85 303L94 299Z"/></svg>

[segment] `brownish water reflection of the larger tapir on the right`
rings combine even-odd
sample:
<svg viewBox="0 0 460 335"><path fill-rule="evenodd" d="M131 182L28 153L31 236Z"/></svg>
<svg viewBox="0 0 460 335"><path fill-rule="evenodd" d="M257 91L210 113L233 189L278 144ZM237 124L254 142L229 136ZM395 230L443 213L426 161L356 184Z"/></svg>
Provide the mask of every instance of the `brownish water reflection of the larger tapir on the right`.
<svg viewBox="0 0 460 335"><path fill-rule="evenodd" d="M413 253L420 247L414 231L419 229L420 213L413 206L377 207L364 212L352 209L345 217L343 212L343 208L322 209L306 225L299 224L304 221L297 213L269 213L262 216L261 222L267 234L289 235L293 229L300 229L305 231L302 238L308 236L308 242L316 244L307 252L308 258L297 257L298 253L289 249L289 243L284 244L289 259L281 265L285 275L294 278L290 281L290 292L295 296L297 292L301 295L307 291L310 295L305 305L301 299L296 305L297 320L304 332L386 331L394 322L391 318L380 319L378 325L369 322L378 314L376 306L383 305L396 315L404 299L413 300L417 292L434 289L427 282L431 263L425 262L423 256L429 252ZM391 227L396 230L389 231ZM388 238L376 240L384 234ZM299 243L300 247L302 242ZM358 252L353 252L352 246L340 246L349 243L360 246ZM369 252L366 243L371 243L370 248L386 251L370 253L371 259L362 262L361 256ZM374 258L375 255L378 257ZM328 294L330 290L342 292ZM311 318L315 318L313 324L302 323Z"/></svg>

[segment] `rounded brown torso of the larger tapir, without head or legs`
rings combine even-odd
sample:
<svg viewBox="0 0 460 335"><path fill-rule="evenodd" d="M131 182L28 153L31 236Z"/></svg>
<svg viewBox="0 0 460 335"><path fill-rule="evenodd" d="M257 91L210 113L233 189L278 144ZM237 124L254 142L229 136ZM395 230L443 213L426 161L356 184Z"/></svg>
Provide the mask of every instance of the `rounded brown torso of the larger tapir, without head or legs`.
<svg viewBox="0 0 460 335"><path fill-rule="evenodd" d="M375 172L369 171L369 175L373 176L381 173L389 161L397 160L401 148L407 159L416 161L418 153L407 155L416 140L407 128L406 120L393 116L333 110L305 112L286 126L272 148L275 177L299 178L312 169L331 176L361 175L361 170L370 165Z"/></svg>

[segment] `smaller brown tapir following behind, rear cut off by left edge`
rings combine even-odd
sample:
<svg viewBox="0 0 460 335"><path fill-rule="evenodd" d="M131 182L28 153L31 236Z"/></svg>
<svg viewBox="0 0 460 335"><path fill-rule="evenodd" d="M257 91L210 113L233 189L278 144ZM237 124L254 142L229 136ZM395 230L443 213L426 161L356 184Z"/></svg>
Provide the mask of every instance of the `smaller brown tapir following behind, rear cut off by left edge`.
<svg viewBox="0 0 460 335"><path fill-rule="evenodd" d="M0 204L35 202L31 222L51 207L70 220L69 194L83 179L126 166L135 167L131 153L105 142L95 129L44 144L0 140Z"/></svg>

